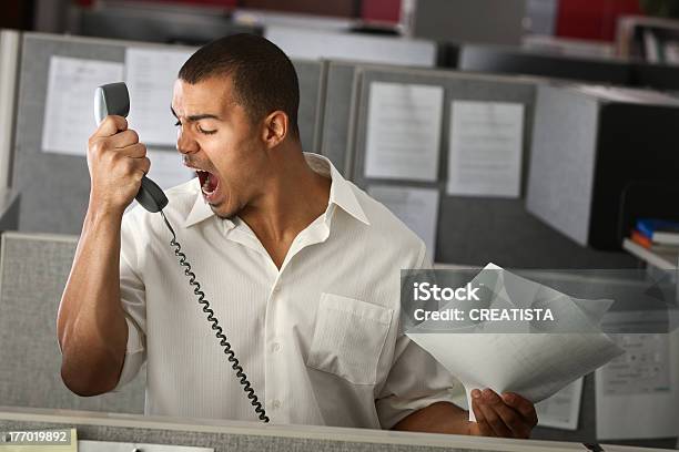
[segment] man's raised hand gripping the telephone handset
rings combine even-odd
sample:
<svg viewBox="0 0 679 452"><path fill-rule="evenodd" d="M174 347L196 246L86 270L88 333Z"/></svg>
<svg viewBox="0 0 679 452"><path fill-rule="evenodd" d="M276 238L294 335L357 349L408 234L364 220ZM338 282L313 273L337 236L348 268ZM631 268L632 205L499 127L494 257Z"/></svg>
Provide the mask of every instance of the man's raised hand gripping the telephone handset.
<svg viewBox="0 0 679 452"><path fill-rule="evenodd" d="M132 203L151 161L123 116L107 116L88 143L90 208L120 214Z"/></svg>

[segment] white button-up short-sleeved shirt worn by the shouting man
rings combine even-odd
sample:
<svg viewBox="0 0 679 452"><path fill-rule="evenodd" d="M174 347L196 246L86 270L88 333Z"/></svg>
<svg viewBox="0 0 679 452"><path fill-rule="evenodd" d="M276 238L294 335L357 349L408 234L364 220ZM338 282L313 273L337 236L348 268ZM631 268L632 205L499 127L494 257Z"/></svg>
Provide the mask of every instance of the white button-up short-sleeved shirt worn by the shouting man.
<svg viewBox="0 0 679 452"><path fill-rule="evenodd" d="M399 330L401 269L425 245L325 157L327 209L278 269L240 218L222 219L197 178L164 209L271 422L388 429L453 401L462 384ZM120 284L129 335L121 379L146 363L145 413L257 420L170 246L160 214L123 218Z"/></svg>

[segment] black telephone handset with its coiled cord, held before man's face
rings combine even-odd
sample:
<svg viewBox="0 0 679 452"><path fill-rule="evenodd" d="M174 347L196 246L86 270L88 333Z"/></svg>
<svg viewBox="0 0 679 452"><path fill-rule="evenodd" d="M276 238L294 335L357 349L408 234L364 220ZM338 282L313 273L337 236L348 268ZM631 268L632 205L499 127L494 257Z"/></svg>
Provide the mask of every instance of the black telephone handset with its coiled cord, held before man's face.
<svg viewBox="0 0 679 452"><path fill-rule="evenodd" d="M124 82L109 83L99 86L94 92L94 117L97 124L101 122L110 114L119 116L128 116L130 113L130 93ZM172 234L172 240L170 246L174 248L174 255L179 259L180 267L184 268L184 275L189 278L189 285L193 288L193 294L197 296L197 302L201 305L203 312L207 314L207 322L211 323L211 328L215 331L216 338L220 340L220 345L224 348L224 355L226 360L231 362L231 368L235 371L236 379L243 386L243 390L250 400L250 403L254 407L255 414L260 420L268 422L266 412L262 407L262 402L259 401L257 396L252 388L247 376L243 372L243 368L239 363L234 351L231 348L231 343L226 340L222 327L220 327L217 318L214 316L214 311L210 309L210 302L205 299L205 294L201 290L201 285L195 278L195 274L191 270L191 264L186 260L186 255L182 253L182 247L176 242L176 234L170 225L168 217L163 212L163 208L168 205L168 197L153 181L146 176L142 177L141 187L135 196L139 204L142 205L146 210L151 213L160 213Z"/></svg>

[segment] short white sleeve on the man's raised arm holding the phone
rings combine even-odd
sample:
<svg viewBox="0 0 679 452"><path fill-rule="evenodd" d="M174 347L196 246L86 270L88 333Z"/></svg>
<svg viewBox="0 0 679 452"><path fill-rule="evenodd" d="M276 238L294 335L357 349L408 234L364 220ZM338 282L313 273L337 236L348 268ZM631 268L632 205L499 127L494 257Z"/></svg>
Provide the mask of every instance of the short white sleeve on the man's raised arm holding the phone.
<svg viewBox="0 0 679 452"><path fill-rule="evenodd" d="M120 379L113 392L132 381L146 359L145 288L138 268L139 248L130 223L131 215L126 214L122 223L120 249L120 298L128 323L128 346Z"/></svg>

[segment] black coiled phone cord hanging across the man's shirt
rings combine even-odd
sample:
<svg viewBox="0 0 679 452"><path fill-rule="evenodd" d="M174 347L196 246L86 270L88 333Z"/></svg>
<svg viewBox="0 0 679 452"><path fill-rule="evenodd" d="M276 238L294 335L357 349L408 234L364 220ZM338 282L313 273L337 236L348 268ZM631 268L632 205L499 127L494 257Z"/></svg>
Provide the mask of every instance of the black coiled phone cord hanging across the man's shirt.
<svg viewBox="0 0 679 452"><path fill-rule="evenodd" d="M217 318L214 317L214 311L210 309L210 302L205 299L205 294L201 290L201 284L196 281L195 274L191 270L191 264L186 261L186 255L182 253L182 246L179 244L179 242L176 242L176 234L174 234L174 229L170 225L170 222L165 217L163 210L160 210L160 214L163 217L165 225L168 225L170 233L172 233L172 240L170 240L170 246L174 248L174 255L179 259L180 267L184 267L184 275L189 277L189 285L193 286L193 292L199 297L199 305L202 305L203 312L207 314L207 321L212 323L212 329L216 331L215 336L217 339L220 339L220 345L224 347L224 355L226 355L226 359L229 360L229 362L231 362L231 368L235 370L236 378L243 386L243 390L247 394L247 399L250 400L250 403L254 407L255 413L257 414L260 420L263 422L268 422L268 418L266 417L266 412L262 407L262 402L260 402L257 396L254 392L254 389L252 388L252 384L250 383L250 381L247 381L247 376L245 376L245 372L243 372L243 367L239 363L234 351L231 349L231 343L229 343L229 341L226 340L226 336L224 336Z"/></svg>

